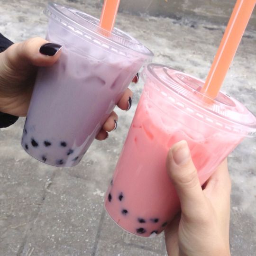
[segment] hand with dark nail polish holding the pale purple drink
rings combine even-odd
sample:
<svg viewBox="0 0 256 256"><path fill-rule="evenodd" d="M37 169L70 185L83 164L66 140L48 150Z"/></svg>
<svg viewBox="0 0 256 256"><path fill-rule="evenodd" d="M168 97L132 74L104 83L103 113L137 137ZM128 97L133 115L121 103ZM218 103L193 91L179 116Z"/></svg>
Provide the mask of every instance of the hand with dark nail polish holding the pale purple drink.
<svg viewBox="0 0 256 256"><path fill-rule="evenodd" d="M26 116L33 91L37 67L53 65L61 55L60 46L43 51L47 44L42 38L31 38L22 43L13 44L0 53L0 112L14 116ZM39 49L41 49L39 51ZM46 49L46 47L43 47ZM136 76L132 82L137 82ZM131 107L132 91L127 89L118 107L128 110ZM118 116L113 111L106 120L97 139L108 137L108 132L117 127Z"/></svg>

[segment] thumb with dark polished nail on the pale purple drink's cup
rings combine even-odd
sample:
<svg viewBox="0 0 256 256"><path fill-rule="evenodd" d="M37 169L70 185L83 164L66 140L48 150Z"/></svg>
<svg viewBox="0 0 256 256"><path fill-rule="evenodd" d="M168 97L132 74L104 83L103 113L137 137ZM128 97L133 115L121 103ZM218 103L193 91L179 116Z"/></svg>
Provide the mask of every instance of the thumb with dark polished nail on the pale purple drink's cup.
<svg viewBox="0 0 256 256"><path fill-rule="evenodd" d="M35 37L10 46L6 54L10 64L18 69L24 65L49 66L58 60L61 48L61 45Z"/></svg>

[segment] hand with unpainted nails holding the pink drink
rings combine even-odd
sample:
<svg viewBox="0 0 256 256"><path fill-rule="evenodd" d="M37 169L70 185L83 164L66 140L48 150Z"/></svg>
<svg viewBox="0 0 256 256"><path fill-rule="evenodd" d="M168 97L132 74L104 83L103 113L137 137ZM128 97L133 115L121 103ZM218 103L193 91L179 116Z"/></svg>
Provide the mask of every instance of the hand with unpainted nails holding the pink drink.
<svg viewBox="0 0 256 256"><path fill-rule="evenodd" d="M230 256L231 182L227 159L201 188L185 141L168 153L167 171L181 202L181 214L165 230L169 256Z"/></svg>

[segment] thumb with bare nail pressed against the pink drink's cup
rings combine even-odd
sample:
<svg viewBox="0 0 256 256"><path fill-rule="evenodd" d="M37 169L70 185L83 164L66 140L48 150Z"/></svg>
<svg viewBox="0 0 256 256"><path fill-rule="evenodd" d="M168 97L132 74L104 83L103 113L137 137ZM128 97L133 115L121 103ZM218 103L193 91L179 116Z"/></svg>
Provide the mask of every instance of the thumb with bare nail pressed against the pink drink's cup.
<svg viewBox="0 0 256 256"><path fill-rule="evenodd" d="M205 205L205 197L186 141L180 141L170 149L167 172L180 199L182 214L196 218Z"/></svg>

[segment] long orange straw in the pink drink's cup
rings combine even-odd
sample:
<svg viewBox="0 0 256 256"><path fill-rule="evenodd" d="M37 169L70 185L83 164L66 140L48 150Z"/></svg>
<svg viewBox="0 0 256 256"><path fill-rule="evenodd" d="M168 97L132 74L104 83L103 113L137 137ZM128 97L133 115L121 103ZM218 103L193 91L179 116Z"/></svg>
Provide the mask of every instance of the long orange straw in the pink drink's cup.
<svg viewBox="0 0 256 256"><path fill-rule="evenodd" d="M221 84L238 49L255 3L256 0L237 0L210 72L201 89L201 92L211 99L218 96Z"/></svg>

